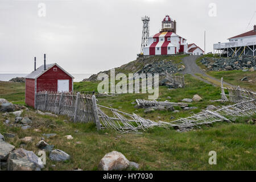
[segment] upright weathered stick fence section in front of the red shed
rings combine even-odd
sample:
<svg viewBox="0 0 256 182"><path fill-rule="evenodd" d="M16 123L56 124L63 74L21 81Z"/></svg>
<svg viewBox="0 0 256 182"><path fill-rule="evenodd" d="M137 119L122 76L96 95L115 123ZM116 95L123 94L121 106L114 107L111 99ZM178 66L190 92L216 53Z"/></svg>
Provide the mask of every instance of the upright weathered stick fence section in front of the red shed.
<svg viewBox="0 0 256 182"><path fill-rule="evenodd" d="M101 129L94 94L80 92L38 92L35 109L51 111L57 115L68 115L73 122L94 122Z"/></svg>

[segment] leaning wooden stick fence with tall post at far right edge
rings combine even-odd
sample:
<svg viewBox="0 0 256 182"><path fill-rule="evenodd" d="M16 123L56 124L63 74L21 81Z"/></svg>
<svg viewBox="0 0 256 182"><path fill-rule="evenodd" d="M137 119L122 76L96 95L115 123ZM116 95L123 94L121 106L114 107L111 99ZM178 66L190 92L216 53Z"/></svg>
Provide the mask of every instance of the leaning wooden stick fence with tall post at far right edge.
<svg viewBox="0 0 256 182"><path fill-rule="evenodd" d="M228 90L228 94L225 93L225 89ZM239 103L252 99L255 100L256 93L248 89L240 88L240 86L225 88L223 86L223 78L221 78L221 99L223 101Z"/></svg>

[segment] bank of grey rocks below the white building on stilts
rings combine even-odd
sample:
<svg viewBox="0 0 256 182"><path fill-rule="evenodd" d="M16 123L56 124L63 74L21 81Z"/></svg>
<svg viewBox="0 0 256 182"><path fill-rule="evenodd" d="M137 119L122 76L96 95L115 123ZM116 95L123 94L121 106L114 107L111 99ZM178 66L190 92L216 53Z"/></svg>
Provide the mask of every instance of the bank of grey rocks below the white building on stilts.
<svg viewBox="0 0 256 182"><path fill-rule="evenodd" d="M255 56L231 57L231 58L214 58L204 57L200 61L210 71L230 71L230 70L256 70Z"/></svg>

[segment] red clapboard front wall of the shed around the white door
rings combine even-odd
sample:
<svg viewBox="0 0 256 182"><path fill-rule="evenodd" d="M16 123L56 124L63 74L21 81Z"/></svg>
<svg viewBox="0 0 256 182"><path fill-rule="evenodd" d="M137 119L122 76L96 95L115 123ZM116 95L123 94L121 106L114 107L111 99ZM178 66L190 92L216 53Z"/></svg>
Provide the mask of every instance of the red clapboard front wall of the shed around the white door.
<svg viewBox="0 0 256 182"><path fill-rule="evenodd" d="M53 71L53 68L57 68L57 71ZM57 80L69 80L69 92L72 91L72 77L55 65L36 79L36 92L44 90L56 92Z"/></svg>

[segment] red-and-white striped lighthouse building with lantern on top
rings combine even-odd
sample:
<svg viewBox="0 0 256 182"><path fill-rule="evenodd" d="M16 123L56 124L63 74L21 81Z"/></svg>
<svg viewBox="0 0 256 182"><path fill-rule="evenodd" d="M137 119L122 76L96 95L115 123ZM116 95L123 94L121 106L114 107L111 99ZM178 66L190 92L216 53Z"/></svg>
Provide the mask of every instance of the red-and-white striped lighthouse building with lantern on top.
<svg viewBox="0 0 256 182"><path fill-rule="evenodd" d="M162 30L147 39L143 55L174 55L188 51L187 40L176 34L176 21L169 15L162 21Z"/></svg>

